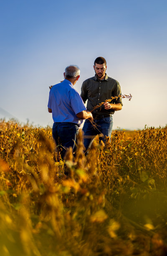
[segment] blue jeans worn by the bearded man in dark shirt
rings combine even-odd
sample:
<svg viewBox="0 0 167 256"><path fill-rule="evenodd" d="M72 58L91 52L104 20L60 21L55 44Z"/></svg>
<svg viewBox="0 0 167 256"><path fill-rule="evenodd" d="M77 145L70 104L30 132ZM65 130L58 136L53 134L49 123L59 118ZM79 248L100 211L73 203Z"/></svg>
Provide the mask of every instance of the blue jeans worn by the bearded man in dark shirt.
<svg viewBox="0 0 167 256"><path fill-rule="evenodd" d="M101 134L101 136L99 136L99 140L103 141L104 143L106 142L105 136L111 137L113 126L112 116L95 119L94 122L96 123L97 129L99 131L92 126L88 119L85 120L83 125L82 131L84 132L84 146L86 151L91 146L91 143L93 142L96 135Z"/></svg>

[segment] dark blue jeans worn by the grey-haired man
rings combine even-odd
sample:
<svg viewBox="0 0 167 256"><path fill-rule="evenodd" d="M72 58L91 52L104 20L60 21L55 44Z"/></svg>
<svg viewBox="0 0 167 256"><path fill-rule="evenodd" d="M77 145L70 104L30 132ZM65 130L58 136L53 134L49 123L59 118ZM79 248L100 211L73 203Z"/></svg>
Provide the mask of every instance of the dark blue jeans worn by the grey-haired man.
<svg viewBox="0 0 167 256"><path fill-rule="evenodd" d="M62 148L61 158L66 154L67 148L72 147L74 149L78 132L78 125L75 123L53 123L52 136L56 142L56 147Z"/></svg>

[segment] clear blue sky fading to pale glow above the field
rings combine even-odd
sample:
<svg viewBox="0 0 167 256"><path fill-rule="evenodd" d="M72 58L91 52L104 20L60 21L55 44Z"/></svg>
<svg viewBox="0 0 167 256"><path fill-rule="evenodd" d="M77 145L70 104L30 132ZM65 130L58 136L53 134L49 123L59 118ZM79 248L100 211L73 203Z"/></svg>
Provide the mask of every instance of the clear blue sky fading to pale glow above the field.
<svg viewBox="0 0 167 256"><path fill-rule="evenodd" d="M76 64L80 93L98 56L133 96L113 128L166 125L166 0L0 0L0 118L52 125L49 85Z"/></svg>

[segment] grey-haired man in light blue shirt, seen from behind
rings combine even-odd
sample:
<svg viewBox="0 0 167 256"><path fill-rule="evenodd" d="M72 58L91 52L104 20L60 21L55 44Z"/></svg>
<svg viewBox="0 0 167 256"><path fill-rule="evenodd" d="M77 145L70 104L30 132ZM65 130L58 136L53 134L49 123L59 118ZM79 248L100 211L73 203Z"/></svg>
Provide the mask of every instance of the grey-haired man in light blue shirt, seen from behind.
<svg viewBox="0 0 167 256"><path fill-rule="evenodd" d="M70 65L64 72L64 80L55 84L49 93L48 112L53 117L53 138L58 146L61 144L61 157L65 157L66 149L74 148L78 127L83 119L92 119L91 112L87 111L83 100L73 88L80 77L80 69Z"/></svg>

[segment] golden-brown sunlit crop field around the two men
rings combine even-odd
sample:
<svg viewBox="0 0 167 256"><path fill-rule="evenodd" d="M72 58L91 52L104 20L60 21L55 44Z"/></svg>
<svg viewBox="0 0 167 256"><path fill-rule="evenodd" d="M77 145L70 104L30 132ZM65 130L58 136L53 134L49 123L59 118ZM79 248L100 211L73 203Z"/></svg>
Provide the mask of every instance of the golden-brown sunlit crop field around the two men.
<svg viewBox="0 0 167 256"><path fill-rule="evenodd" d="M80 132L58 157L51 128L0 121L0 256L167 255L167 127L114 131L86 157Z"/></svg>

